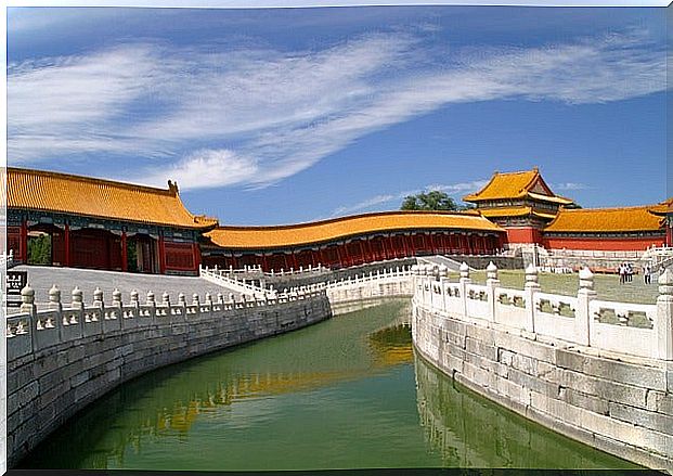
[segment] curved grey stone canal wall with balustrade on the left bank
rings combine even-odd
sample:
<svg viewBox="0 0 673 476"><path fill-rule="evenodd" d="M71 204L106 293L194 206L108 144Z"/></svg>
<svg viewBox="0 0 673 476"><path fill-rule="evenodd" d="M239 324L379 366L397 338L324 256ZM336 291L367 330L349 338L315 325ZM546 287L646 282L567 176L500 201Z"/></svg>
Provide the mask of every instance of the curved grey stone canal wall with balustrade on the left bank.
<svg viewBox="0 0 673 476"><path fill-rule="evenodd" d="M332 316L324 291L262 300L181 296L170 304L85 306L37 312L30 303L8 318L8 465L88 403L142 373L198 355L288 332ZM30 301L29 294L24 301Z"/></svg>

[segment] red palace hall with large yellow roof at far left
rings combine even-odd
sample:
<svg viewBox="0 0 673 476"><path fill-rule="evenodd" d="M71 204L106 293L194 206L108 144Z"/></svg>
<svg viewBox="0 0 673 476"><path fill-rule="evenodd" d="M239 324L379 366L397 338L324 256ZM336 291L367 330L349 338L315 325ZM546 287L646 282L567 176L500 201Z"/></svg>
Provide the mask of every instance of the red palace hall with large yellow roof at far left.
<svg viewBox="0 0 673 476"><path fill-rule="evenodd" d="M197 274L198 240L217 220L168 190L9 167L8 248L25 263ZM49 243L48 254L34 250ZM34 260L37 259L37 262Z"/></svg>

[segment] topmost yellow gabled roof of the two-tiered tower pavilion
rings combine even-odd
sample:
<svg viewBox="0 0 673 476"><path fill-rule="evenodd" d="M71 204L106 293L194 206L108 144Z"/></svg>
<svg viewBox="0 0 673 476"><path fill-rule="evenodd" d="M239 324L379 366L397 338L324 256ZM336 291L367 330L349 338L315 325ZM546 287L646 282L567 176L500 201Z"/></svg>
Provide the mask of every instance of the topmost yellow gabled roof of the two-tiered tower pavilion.
<svg viewBox="0 0 673 476"><path fill-rule="evenodd" d="M538 182L551 194L532 192ZM538 168L518 172L495 172L483 189L477 193L464 196L463 200L465 202L482 202L487 200L523 198L526 196L561 205L572 203L569 198L553 194L549 186L540 176Z"/></svg>

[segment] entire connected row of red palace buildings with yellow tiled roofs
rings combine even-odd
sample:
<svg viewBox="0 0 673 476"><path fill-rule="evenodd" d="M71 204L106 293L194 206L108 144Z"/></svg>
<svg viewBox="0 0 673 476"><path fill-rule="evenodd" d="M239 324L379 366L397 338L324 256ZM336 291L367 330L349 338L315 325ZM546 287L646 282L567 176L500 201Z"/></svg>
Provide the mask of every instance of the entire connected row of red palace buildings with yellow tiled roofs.
<svg viewBox="0 0 673 476"><path fill-rule="evenodd" d="M277 227L219 226L168 189L68 173L7 169L8 249L18 262L163 274L207 266L341 268L503 247L645 250L673 245L673 198L582 209L540 170L495 172L466 211L383 211Z"/></svg>

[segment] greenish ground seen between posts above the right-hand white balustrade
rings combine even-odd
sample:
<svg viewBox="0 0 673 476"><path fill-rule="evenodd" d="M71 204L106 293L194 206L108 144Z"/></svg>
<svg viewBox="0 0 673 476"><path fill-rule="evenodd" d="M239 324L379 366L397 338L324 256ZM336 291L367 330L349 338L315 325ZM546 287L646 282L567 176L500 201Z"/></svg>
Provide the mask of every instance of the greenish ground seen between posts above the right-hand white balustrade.
<svg viewBox="0 0 673 476"><path fill-rule="evenodd" d="M457 281L458 273L449 273L451 281ZM486 271L470 273L474 283L486 283ZM499 271L499 279L503 287L522 290L526 273L521 270ZM580 287L580 278L573 274L540 273L539 282L545 293L575 296ZM597 298L604 300L617 300L622 303L655 304L658 296L657 279L652 276L652 283L645 285L643 276L634 275L633 282L619 284L617 274L594 274L594 290L598 293Z"/></svg>

